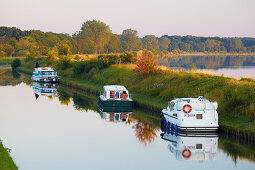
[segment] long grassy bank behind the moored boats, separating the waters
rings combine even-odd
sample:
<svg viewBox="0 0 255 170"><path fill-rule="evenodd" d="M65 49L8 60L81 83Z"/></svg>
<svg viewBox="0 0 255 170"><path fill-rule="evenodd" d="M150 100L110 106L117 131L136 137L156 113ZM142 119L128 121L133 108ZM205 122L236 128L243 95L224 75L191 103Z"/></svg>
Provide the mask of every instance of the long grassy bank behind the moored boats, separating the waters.
<svg viewBox="0 0 255 170"><path fill-rule="evenodd" d="M161 70L151 75L141 75L135 65L119 64L110 67L91 67L80 74L74 68L78 62L69 63L65 69L59 61L46 62L37 58L23 63L20 68L32 73L35 62L52 66L61 75L61 81L80 89L99 92L106 84L122 84L131 92L139 106L160 111L167 101L175 97L198 97L200 95L219 104L219 123L222 127L245 131L255 136L255 81L236 80L202 73ZM86 67L86 65L84 66Z"/></svg>

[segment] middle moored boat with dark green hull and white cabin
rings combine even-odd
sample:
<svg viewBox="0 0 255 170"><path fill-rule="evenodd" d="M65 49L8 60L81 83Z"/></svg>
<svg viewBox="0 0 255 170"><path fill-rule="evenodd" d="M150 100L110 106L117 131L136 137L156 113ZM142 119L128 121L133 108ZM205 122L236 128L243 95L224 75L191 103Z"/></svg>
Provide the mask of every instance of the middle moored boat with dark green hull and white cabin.
<svg viewBox="0 0 255 170"><path fill-rule="evenodd" d="M103 112L132 112L134 102L124 86L106 85L98 97L98 107Z"/></svg>

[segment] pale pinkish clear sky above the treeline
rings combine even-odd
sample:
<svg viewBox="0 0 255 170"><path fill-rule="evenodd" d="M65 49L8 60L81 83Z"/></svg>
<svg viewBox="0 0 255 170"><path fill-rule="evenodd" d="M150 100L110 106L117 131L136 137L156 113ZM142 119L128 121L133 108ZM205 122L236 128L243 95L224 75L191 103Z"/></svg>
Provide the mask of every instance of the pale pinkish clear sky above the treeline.
<svg viewBox="0 0 255 170"><path fill-rule="evenodd" d="M0 0L0 26L72 35L88 20L139 37L255 37L255 0Z"/></svg>

